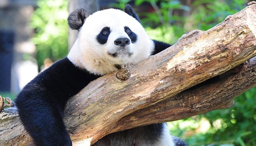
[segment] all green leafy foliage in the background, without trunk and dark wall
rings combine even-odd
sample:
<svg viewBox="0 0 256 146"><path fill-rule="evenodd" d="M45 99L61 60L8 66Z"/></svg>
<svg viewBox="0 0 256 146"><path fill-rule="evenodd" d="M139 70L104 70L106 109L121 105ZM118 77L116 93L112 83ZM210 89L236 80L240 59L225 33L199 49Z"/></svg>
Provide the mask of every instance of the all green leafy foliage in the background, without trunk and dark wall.
<svg viewBox="0 0 256 146"><path fill-rule="evenodd" d="M110 7L124 8L131 0L118 0ZM135 5L150 4L154 11L139 12L152 39L175 43L191 30L207 30L222 22L226 16L245 8L245 0L194 0L184 5L179 0L135 0ZM68 53L68 1L38 0L38 8L30 26L37 46L38 70L46 58L56 61ZM136 9L136 8L135 8ZM179 13L181 12L181 13ZM50 17L49 17L50 16ZM168 126L173 135L190 146L256 146L256 88L235 99L226 110L215 110L174 122Z"/></svg>

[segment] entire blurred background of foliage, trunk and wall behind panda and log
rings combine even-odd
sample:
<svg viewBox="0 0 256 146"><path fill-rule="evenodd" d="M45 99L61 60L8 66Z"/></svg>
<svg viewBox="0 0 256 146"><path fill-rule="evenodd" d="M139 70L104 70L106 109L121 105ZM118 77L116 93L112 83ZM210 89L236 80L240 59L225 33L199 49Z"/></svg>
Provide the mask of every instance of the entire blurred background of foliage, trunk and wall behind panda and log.
<svg viewBox="0 0 256 146"><path fill-rule="evenodd" d="M38 72L65 57L76 39L68 14L131 4L152 39L175 43L191 30L207 30L249 0L0 0L0 95L14 99ZM256 88L226 110L169 122L190 146L256 146Z"/></svg>

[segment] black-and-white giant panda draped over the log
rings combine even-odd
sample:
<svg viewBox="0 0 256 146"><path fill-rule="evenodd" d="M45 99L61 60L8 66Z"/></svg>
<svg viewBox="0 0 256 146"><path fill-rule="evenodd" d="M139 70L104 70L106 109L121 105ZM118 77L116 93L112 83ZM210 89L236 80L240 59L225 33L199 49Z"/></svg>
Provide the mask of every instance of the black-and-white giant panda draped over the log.
<svg viewBox="0 0 256 146"><path fill-rule="evenodd" d="M77 9L68 17L79 30L67 57L39 73L19 93L20 119L37 146L71 146L63 123L67 100L89 82L115 72L123 64L135 65L170 45L151 40L130 5L124 11L105 9L89 15ZM94 146L185 146L169 134L165 123L133 128L103 137Z"/></svg>

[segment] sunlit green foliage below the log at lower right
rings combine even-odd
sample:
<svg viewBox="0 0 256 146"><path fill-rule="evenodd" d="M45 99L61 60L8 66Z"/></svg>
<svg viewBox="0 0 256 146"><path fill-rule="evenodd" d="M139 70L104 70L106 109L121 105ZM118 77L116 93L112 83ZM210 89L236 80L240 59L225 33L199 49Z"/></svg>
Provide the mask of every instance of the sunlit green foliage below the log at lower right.
<svg viewBox="0 0 256 146"><path fill-rule="evenodd" d="M190 146L256 146L256 87L235 99L235 105L169 124Z"/></svg>

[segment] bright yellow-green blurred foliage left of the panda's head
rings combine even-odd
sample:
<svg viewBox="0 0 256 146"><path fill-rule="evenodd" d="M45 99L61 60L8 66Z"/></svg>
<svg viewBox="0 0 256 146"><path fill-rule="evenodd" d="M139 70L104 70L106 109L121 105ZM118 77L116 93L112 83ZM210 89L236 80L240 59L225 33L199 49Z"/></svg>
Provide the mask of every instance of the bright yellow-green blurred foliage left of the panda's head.
<svg viewBox="0 0 256 146"><path fill-rule="evenodd" d="M35 29L32 41L37 47L39 70L45 58L56 61L67 55L67 8L67 0L38 0L30 25Z"/></svg>

